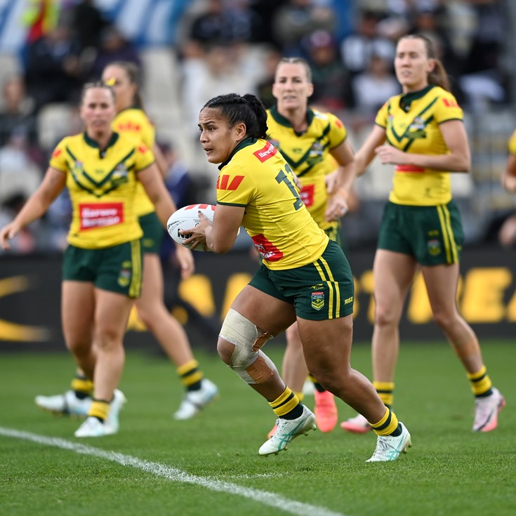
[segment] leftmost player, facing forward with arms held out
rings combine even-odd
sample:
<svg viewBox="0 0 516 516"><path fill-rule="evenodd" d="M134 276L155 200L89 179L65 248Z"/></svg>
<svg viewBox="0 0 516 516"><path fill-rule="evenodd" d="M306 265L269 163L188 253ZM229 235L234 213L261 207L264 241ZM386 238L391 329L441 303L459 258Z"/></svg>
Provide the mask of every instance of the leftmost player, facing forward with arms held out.
<svg viewBox="0 0 516 516"><path fill-rule="evenodd" d="M124 333L142 284L142 230L134 210L141 183L161 224L176 206L168 194L154 154L143 143L116 133L114 91L102 82L83 88L85 132L68 136L55 148L38 190L12 223L0 231L8 239L46 213L65 188L72 201L72 223L62 271L62 329L77 365L93 381L87 418L76 437L102 437L119 430L125 402L117 390L124 369ZM181 250L185 276L193 272L190 251Z"/></svg>

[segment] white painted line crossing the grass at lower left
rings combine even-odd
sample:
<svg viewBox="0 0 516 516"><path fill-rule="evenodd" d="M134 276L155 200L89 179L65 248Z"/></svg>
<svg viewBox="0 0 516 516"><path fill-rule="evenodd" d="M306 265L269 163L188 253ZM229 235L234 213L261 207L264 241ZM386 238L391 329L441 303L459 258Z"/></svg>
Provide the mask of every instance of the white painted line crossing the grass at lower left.
<svg viewBox="0 0 516 516"><path fill-rule="evenodd" d="M0 435L5 437L15 437L16 439L25 439L27 441L37 442L38 444L46 444L46 446L54 446L64 450L74 451L76 454L89 455L93 457L105 458L107 461L119 463L124 466L131 466L138 470L143 470L157 477L163 477L173 482L183 482L184 484L194 484L197 486L211 489L211 491L219 491L221 493L237 494L244 498L270 505L284 512L290 512L296 516L346 516L342 512L333 512L333 510L309 503L297 502L279 494L253 489L252 487L242 487L231 482L222 482L220 480L209 479L206 477L198 477L190 475L185 471L173 468L172 466L159 462L143 461L138 457L119 454L116 451L105 451L86 444L77 444L75 442L60 439L58 437L46 437L44 435L33 434L32 432L22 432L13 428L4 428L0 426Z"/></svg>

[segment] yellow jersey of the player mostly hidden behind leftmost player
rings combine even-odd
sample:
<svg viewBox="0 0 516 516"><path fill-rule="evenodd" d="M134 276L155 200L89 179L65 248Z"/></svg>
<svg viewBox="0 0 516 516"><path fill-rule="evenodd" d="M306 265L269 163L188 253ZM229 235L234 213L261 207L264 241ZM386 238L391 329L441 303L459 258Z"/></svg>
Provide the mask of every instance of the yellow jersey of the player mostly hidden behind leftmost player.
<svg viewBox="0 0 516 516"><path fill-rule="evenodd" d="M140 110L140 108L131 107L119 112L117 116L114 117L112 127L113 131L126 135L127 138L131 138L135 143L143 142L151 150L154 148L156 131L154 131L154 126L150 123L145 112ZM134 202L136 215L138 217L154 211L154 204L152 204L149 197L147 197L145 189L140 183L136 185Z"/></svg>

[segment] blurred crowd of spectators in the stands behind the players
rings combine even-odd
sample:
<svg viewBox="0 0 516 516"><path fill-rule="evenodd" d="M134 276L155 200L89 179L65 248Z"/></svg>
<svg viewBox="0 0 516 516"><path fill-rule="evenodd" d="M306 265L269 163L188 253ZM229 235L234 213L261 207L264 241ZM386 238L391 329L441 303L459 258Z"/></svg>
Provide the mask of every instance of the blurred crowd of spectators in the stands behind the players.
<svg viewBox="0 0 516 516"><path fill-rule="evenodd" d="M210 202L213 171L206 168L196 145L197 116L206 100L232 91L249 92L272 105L277 61L302 56L313 70L312 105L338 114L357 148L378 108L400 92L393 72L395 44L403 34L414 32L427 35L439 48L454 94L468 113L470 138L475 140L480 128L481 136L487 133L491 138L489 152L496 152L482 168L485 149L472 141L473 152L479 152L478 175L458 178L456 196L470 199L474 189L487 188L491 197L498 192L494 183L499 183L506 143L516 125L507 109L516 100L510 38L514 13L508 1L178 1L175 44L167 48L141 48L131 41L107 16L102 1L24 1L20 23L27 31L25 46L13 56L17 66L0 67L0 226L39 184L55 143L81 131L81 85L98 79L109 62L127 60L142 67L144 102L168 153L167 184L172 191L180 181L187 184L183 199L176 201ZM153 54L166 58L148 67ZM169 83L161 82L165 73ZM491 115L496 117L497 132L486 130ZM383 204L390 186L385 170L366 176L367 183L357 183L357 213L344 220L351 245L376 239L380 201ZM482 227L492 222L489 211L513 208L507 197L496 199L482 204L477 196L474 206L464 201L470 241L485 236ZM59 198L44 220L17 238L15 252L63 249L69 218L70 204Z"/></svg>

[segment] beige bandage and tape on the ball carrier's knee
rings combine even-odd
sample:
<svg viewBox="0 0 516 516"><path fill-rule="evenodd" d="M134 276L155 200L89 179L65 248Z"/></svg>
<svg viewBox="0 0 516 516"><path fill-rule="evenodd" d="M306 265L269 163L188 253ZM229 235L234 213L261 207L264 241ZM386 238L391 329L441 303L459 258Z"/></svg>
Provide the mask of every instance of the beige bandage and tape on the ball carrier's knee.
<svg viewBox="0 0 516 516"><path fill-rule="evenodd" d="M274 362L260 350L272 338L249 319L230 308L224 319L220 337L234 345L230 367L246 383L263 383L276 371Z"/></svg>

